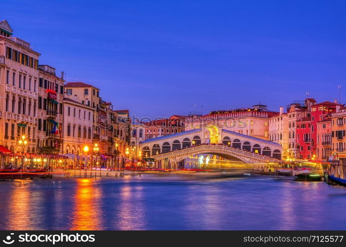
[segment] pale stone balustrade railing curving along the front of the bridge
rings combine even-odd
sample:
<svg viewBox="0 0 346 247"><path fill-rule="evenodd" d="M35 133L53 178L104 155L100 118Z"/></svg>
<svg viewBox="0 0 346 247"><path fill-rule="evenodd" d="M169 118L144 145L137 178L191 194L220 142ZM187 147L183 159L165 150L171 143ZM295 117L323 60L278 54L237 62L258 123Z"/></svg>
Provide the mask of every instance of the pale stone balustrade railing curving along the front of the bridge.
<svg viewBox="0 0 346 247"><path fill-rule="evenodd" d="M154 155L151 156L151 158L154 159L164 159L164 158L168 158L172 155L174 156L180 156L180 155L187 155L189 153L193 153L196 151L204 151L207 152L207 149L209 150L222 150L222 151L226 151L228 153L231 154L239 154L241 156L245 156L248 158L253 158L256 160L261 160L261 161L278 161L275 158L271 158L271 157L267 157L267 156L263 156L263 155L259 155L259 154L255 154L255 153L251 153L251 152L247 152L241 149L237 149L237 148L233 148L233 147L229 147L229 146L224 146L224 145L200 145L200 146L196 146L196 147L190 147L190 148L186 148L186 149L180 149L177 151L171 151L168 153L164 153L164 154L159 154L159 155Z"/></svg>

